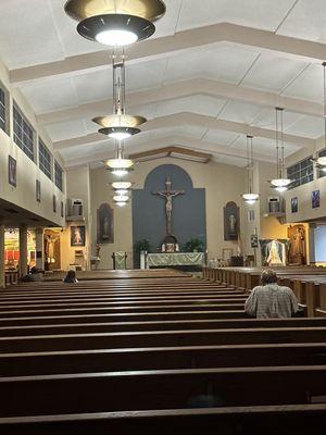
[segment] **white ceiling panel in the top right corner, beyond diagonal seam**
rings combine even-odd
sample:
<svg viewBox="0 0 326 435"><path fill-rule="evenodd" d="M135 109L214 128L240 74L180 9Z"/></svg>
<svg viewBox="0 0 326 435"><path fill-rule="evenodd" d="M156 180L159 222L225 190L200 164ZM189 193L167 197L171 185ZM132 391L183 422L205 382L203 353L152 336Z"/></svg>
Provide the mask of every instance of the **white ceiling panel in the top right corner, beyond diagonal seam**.
<svg viewBox="0 0 326 435"><path fill-rule="evenodd" d="M277 33L325 44L325 0L301 0L297 2Z"/></svg>

